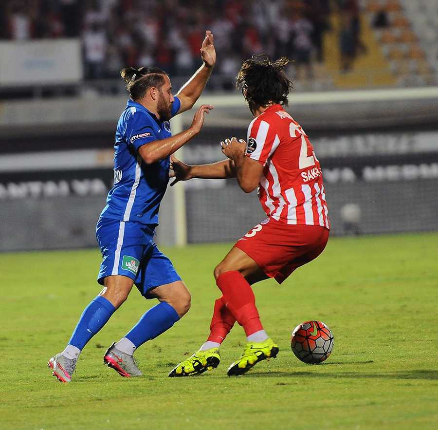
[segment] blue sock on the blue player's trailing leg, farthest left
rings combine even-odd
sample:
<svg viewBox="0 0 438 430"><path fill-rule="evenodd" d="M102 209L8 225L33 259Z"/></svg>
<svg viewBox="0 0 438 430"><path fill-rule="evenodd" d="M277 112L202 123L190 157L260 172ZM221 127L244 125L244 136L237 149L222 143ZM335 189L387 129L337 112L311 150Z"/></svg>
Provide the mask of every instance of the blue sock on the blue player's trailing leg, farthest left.
<svg viewBox="0 0 438 430"><path fill-rule="evenodd" d="M91 337L108 322L114 311L115 307L110 300L97 296L82 312L69 345L73 345L82 351Z"/></svg>

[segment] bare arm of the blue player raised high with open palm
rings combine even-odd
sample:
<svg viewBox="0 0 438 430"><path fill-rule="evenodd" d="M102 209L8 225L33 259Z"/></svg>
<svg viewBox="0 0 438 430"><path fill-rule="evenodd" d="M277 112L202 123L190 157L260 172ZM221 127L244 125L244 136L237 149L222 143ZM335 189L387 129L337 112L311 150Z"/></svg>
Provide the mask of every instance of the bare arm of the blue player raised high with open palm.
<svg viewBox="0 0 438 430"><path fill-rule="evenodd" d="M201 46L202 66L195 74L181 87L176 94L181 101L178 113L192 109L193 105L201 95L208 78L213 71L216 63L216 51L213 44L213 35L210 30L205 33L204 41Z"/></svg>

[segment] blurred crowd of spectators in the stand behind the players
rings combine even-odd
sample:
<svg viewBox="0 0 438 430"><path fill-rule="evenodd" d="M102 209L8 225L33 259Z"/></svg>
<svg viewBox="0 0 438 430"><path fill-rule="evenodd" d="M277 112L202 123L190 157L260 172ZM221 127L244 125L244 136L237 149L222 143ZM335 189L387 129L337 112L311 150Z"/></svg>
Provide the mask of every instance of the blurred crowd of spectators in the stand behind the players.
<svg viewBox="0 0 438 430"><path fill-rule="evenodd" d="M116 77L126 66L154 64L171 75L200 65L205 30L217 67L235 75L242 59L267 53L309 67L323 61L332 3L355 0L5 0L0 37L80 37L88 79Z"/></svg>

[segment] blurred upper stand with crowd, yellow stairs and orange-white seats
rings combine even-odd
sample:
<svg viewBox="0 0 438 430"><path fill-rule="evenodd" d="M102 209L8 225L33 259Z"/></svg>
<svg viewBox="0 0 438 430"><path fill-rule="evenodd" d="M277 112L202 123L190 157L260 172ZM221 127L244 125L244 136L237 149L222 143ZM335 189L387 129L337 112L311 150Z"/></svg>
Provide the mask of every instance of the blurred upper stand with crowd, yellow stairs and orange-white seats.
<svg viewBox="0 0 438 430"><path fill-rule="evenodd" d="M27 96L121 93L120 69L146 63L178 85L197 64L206 28L221 53L210 90L232 90L242 59L258 53L294 58L297 91L437 82L438 6L431 0L6 0L0 17L0 39L77 38L82 45L87 86ZM0 97L11 96L17 91L0 85Z"/></svg>

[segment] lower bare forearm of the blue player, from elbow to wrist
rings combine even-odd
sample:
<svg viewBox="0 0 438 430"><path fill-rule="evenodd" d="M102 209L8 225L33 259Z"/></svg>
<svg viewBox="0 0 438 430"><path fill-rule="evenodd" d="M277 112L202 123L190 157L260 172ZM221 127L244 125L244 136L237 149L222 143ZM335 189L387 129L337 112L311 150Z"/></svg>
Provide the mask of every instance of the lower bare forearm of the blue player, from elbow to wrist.
<svg viewBox="0 0 438 430"><path fill-rule="evenodd" d="M197 131L193 127L190 127L167 139L147 143L139 148L138 153L146 164L156 163L179 150L196 134L198 134Z"/></svg>

